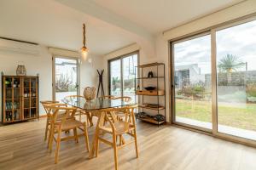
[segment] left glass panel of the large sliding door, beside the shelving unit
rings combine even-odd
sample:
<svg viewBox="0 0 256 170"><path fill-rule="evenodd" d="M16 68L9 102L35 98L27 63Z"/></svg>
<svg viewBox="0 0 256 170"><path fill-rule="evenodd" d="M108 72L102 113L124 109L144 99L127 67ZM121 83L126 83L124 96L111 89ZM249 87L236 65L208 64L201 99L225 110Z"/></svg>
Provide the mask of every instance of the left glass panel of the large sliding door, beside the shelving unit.
<svg viewBox="0 0 256 170"><path fill-rule="evenodd" d="M212 128L211 37L189 37L172 46L175 122Z"/></svg>

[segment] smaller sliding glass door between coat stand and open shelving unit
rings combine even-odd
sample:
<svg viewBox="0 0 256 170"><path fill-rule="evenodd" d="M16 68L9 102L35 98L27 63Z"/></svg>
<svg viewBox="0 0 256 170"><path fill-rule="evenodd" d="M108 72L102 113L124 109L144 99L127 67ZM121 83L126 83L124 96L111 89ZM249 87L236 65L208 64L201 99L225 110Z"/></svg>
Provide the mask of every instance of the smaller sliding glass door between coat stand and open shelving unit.
<svg viewBox="0 0 256 170"><path fill-rule="evenodd" d="M108 61L109 94L128 96L135 100L135 77L138 53L127 54Z"/></svg>

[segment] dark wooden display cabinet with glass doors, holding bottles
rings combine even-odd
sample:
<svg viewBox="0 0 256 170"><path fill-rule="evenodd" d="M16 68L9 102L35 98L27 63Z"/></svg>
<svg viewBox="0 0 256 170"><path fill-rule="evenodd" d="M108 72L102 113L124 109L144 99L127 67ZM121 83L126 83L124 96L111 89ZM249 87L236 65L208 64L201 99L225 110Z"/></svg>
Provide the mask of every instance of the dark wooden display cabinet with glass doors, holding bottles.
<svg viewBox="0 0 256 170"><path fill-rule="evenodd" d="M38 118L38 77L4 76L2 73L2 122Z"/></svg>

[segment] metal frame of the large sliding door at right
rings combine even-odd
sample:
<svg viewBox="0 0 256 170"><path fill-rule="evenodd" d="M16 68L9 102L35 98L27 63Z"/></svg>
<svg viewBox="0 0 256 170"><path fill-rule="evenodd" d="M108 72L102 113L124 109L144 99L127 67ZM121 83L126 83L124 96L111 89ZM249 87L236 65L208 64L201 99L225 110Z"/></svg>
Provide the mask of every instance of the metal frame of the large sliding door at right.
<svg viewBox="0 0 256 170"><path fill-rule="evenodd" d="M231 142L236 142L239 144L246 144L249 146L256 147L256 140L253 139L245 139L242 137L234 136L227 133L220 133L218 132L218 104L217 104L217 65L216 65L216 57L217 57L217 49L216 49L216 32L232 27L241 25L244 23L247 23L249 21L256 20L256 13L254 14L248 14L247 16L243 16L241 18L230 20L227 22L224 22L222 24L219 24L217 26L211 26L207 29L203 29L201 31L195 31L194 33L189 33L187 35L173 38L169 40L169 89L170 89L170 97L169 97L169 105L170 107L170 114L171 114L171 120L172 124L177 125L178 127L183 127L186 129L189 129L191 131L195 131L198 133L207 133L208 135L212 135L218 139L224 139ZM195 127L195 126L188 126L184 123L177 123L175 122L175 102L174 102L174 60L173 60L173 46L172 42L177 42L182 39L186 39L189 37L195 37L196 35L201 35L204 32L210 32L211 35L211 62L212 62L212 132L207 132L206 129L201 127Z"/></svg>

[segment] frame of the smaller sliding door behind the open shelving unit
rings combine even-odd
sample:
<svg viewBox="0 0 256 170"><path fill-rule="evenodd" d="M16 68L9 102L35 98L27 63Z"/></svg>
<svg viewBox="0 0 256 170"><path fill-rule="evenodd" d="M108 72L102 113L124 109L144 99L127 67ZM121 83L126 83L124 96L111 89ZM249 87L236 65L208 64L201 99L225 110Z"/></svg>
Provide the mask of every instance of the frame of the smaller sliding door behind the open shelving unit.
<svg viewBox="0 0 256 170"><path fill-rule="evenodd" d="M110 68L110 63L112 61L115 61L115 60L118 60L120 59L120 66L121 66L121 73L120 73L120 77L121 77L121 97L123 97L123 60L124 58L126 57L129 57L130 55L133 55L133 54L137 54L137 65L139 65L140 63L140 53L139 53L139 50L136 50L136 51L133 51L131 53L128 53L128 54L123 54L123 55L120 55L118 57L115 57L115 58L112 58L112 59L108 59L108 95L111 95L111 86L110 86L110 83L111 83L111 68ZM138 75L138 72L137 72L137 75Z"/></svg>

